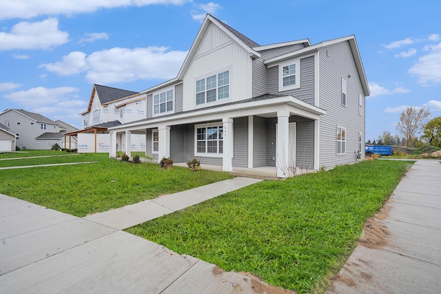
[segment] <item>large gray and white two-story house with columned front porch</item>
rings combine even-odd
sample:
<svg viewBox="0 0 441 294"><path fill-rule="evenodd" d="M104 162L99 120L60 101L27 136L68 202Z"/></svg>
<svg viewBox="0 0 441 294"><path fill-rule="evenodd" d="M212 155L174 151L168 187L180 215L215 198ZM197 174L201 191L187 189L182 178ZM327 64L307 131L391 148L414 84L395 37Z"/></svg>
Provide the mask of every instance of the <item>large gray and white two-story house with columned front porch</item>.
<svg viewBox="0 0 441 294"><path fill-rule="evenodd" d="M369 87L355 36L258 45L207 14L176 78L141 94L146 118L109 127L110 157L132 133L158 161L277 167L280 178L365 156Z"/></svg>

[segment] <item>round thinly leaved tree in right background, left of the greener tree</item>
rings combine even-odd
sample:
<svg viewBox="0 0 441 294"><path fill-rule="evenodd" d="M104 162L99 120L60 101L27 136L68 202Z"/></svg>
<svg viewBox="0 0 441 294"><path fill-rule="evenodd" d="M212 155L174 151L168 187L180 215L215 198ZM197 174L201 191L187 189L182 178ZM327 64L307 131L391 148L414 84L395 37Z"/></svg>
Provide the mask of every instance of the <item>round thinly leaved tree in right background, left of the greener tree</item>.
<svg viewBox="0 0 441 294"><path fill-rule="evenodd" d="M429 116L430 112L424 109L424 106L416 107L411 105L402 111L400 122L397 125L397 132L403 135L407 147L409 147L411 138L414 138L426 124Z"/></svg>

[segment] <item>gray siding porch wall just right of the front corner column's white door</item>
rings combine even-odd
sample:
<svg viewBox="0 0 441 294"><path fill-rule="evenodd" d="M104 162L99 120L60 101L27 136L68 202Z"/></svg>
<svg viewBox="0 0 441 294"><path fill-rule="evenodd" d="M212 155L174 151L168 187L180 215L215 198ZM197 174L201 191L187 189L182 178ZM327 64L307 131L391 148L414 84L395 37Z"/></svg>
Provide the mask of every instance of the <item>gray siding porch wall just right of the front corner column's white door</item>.
<svg viewBox="0 0 441 294"><path fill-rule="evenodd" d="M314 169L314 120L291 116L296 122L296 167Z"/></svg>

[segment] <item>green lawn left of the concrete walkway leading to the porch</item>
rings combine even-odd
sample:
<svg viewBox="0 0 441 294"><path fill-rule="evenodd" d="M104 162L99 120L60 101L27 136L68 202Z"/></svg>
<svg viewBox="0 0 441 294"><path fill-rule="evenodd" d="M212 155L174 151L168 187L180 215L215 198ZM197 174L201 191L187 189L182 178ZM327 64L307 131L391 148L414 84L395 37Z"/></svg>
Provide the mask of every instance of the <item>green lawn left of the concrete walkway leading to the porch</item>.
<svg viewBox="0 0 441 294"><path fill-rule="evenodd" d="M64 154L64 153L62 153ZM56 209L74 216L107 211L127 204L156 198L212 182L232 175L185 167L161 169L153 163L139 165L108 158L107 154L61 156L74 161L94 161L83 165L30 167L0 170L0 193ZM37 158L38 164L53 158ZM23 165L23 160L4 160Z"/></svg>

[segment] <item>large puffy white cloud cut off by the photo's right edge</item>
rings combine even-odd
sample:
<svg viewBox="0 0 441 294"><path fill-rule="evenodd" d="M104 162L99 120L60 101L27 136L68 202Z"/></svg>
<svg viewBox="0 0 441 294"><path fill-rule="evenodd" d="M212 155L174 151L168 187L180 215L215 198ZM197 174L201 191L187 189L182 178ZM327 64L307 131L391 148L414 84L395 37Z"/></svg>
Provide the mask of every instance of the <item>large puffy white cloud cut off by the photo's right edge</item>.
<svg viewBox="0 0 441 294"><path fill-rule="evenodd" d="M417 76L422 85L441 83L441 43L429 48L429 54L421 56L409 73Z"/></svg>

